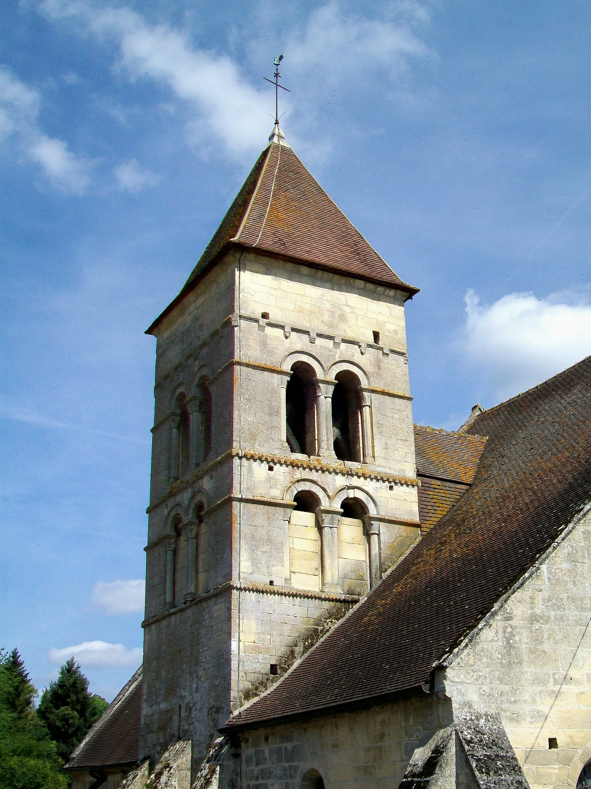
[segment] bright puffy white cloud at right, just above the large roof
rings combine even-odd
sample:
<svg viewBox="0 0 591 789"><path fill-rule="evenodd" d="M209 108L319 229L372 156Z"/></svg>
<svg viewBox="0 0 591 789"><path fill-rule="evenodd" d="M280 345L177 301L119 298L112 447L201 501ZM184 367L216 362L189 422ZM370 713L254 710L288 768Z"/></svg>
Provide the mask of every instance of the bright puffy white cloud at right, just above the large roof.
<svg viewBox="0 0 591 789"><path fill-rule="evenodd" d="M509 397L553 376L591 353L591 305L573 294L508 294L481 305L466 294L464 349Z"/></svg>

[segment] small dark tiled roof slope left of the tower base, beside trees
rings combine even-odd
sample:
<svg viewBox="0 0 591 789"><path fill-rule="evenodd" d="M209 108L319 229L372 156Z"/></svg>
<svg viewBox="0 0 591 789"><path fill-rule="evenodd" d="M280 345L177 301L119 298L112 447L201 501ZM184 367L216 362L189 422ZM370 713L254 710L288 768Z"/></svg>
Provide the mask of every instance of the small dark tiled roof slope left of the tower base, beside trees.
<svg viewBox="0 0 591 789"><path fill-rule="evenodd" d="M142 669L113 699L65 765L66 770L135 765L139 758Z"/></svg>

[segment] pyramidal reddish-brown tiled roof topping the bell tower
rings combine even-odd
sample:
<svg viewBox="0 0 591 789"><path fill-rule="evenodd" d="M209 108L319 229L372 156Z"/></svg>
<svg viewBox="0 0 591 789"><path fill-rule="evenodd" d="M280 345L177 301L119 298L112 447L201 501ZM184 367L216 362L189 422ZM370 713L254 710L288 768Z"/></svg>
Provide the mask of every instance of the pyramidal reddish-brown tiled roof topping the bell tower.
<svg viewBox="0 0 591 789"><path fill-rule="evenodd" d="M180 294L148 333L232 245L400 288L410 296L418 293L418 288L403 282L336 208L285 144L278 127Z"/></svg>

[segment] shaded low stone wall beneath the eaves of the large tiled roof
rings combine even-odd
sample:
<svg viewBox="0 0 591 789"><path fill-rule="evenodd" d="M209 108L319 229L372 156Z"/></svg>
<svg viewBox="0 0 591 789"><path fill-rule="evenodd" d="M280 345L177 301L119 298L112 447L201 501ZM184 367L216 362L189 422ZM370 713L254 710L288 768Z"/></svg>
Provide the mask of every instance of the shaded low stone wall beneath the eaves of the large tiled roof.
<svg viewBox="0 0 591 789"><path fill-rule="evenodd" d="M242 787L300 789L317 771L326 787L392 789L416 747L451 724L451 712L448 701L425 695L247 732Z"/></svg>

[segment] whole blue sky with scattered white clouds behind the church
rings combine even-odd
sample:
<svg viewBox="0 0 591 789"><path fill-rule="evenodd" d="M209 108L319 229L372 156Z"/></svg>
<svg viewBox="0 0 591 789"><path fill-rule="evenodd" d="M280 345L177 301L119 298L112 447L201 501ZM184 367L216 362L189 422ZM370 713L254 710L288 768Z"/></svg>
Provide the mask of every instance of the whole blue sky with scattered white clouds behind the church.
<svg viewBox="0 0 591 789"><path fill-rule="evenodd" d="M591 353L589 2L0 5L2 620L42 688L141 660L154 339L266 143L396 273L414 417Z"/></svg>

